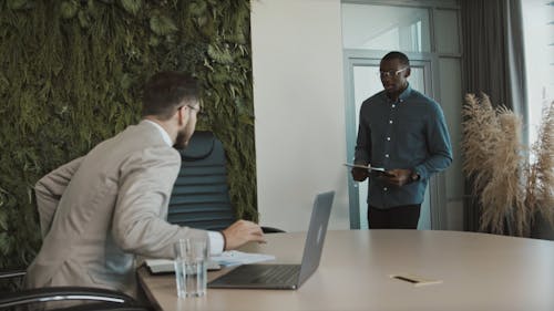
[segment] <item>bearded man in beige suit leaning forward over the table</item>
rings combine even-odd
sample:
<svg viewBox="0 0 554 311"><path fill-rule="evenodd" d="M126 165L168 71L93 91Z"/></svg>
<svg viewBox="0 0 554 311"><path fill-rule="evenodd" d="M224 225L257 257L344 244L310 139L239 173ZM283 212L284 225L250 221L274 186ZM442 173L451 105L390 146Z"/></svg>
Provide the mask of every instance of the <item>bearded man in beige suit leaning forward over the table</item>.
<svg viewBox="0 0 554 311"><path fill-rule="evenodd" d="M86 286L136 297L135 256L173 258L182 238L208 237L212 253L265 242L259 226L238 220L222 232L166 222L179 153L199 111L196 81L155 74L145 85L143 121L40 179L43 243L27 287Z"/></svg>

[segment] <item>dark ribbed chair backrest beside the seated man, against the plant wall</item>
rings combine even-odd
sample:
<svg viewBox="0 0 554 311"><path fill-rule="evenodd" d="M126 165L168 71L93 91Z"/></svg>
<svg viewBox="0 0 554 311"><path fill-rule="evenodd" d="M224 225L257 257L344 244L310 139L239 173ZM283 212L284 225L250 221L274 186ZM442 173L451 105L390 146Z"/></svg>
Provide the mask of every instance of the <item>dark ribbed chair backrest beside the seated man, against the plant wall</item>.
<svg viewBox="0 0 554 311"><path fill-rule="evenodd" d="M167 221L223 230L235 221L223 144L212 132L196 131L185 151L170 199Z"/></svg>

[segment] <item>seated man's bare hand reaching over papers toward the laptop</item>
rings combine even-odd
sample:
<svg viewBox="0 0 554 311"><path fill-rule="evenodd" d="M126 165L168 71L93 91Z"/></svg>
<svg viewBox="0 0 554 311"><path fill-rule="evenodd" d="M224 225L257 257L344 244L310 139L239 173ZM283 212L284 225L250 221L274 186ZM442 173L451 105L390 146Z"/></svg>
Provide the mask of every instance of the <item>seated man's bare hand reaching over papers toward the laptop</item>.
<svg viewBox="0 0 554 311"><path fill-rule="evenodd" d="M261 242L265 243L264 232L261 228L247 220L238 220L223 230L222 234L225 238L225 249L236 249L247 242Z"/></svg>

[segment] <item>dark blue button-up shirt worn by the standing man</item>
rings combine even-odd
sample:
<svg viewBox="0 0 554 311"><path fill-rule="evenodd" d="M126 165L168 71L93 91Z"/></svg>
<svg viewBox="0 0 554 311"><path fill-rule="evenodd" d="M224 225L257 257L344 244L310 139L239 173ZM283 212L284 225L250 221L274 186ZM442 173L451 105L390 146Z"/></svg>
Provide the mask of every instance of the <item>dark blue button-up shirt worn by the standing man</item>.
<svg viewBox="0 0 554 311"><path fill-rule="evenodd" d="M410 85L397 102L384 91L366 100L360 108L355 163L413 169L421 177L398 187L372 174L369 205L390 208L421 204L431 175L452 163L450 136L440 105Z"/></svg>

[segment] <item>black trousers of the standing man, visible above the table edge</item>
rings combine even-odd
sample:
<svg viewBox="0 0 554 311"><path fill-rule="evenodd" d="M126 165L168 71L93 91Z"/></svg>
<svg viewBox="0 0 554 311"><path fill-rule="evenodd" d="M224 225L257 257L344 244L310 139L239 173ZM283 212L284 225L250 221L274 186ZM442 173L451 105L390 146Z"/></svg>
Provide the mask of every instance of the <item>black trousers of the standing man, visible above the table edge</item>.
<svg viewBox="0 0 554 311"><path fill-rule="evenodd" d="M368 206L369 229L417 229L421 204L380 209Z"/></svg>

